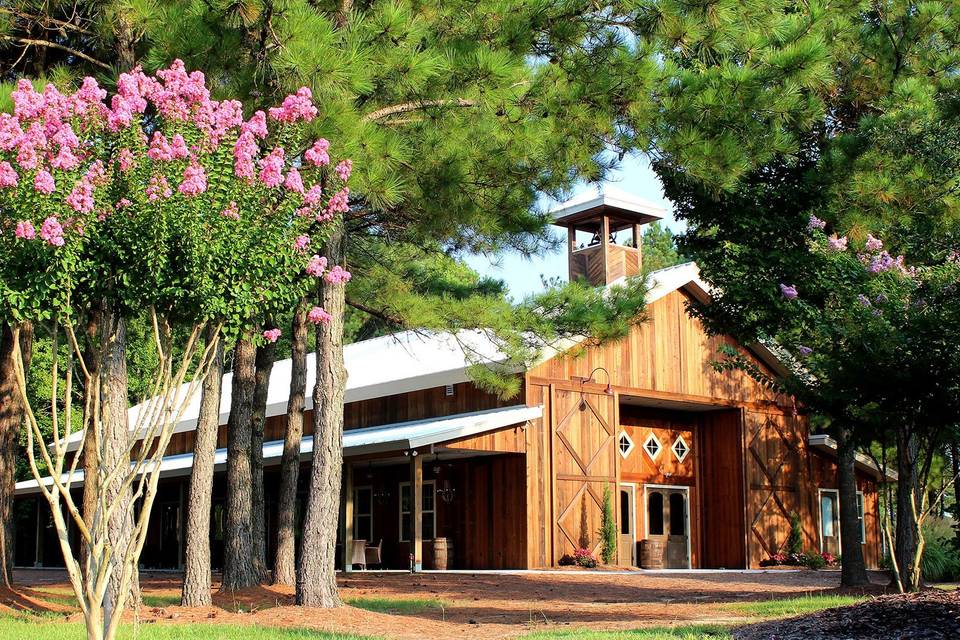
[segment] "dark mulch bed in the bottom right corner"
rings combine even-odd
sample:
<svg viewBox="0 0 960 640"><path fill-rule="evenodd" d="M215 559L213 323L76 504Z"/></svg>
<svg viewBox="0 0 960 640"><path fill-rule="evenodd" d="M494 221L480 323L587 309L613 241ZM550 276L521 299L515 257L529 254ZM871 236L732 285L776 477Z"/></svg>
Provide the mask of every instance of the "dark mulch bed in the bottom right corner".
<svg viewBox="0 0 960 640"><path fill-rule="evenodd" d="M878 596L737 629L736 640L947 640L960 638L960 591Z"/></svg>

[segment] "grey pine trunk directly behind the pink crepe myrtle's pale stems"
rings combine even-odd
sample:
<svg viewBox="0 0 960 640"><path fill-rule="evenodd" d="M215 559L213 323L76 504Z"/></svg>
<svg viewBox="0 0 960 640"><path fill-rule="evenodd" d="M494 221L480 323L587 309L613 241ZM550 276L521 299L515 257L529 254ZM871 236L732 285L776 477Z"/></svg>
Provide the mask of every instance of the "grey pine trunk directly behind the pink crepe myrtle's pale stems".
<svg viewBox="0 0 960 640"><path fill-rule="evenodd" d="M130 428L127 420L127 325L123 316L109 306L104 309L100 345L100 394L102 398L101 458L106 469L129 464ZM106 504L120 503L107 524L107 539L114 549L113 571L104 597L104 619L110 620L116 608L123 556L130 548L133 535L132 489L122 488L124 474L101 488ZM140 583L134 568L130 579L126 606L136 608L140 603Z"/></svg>

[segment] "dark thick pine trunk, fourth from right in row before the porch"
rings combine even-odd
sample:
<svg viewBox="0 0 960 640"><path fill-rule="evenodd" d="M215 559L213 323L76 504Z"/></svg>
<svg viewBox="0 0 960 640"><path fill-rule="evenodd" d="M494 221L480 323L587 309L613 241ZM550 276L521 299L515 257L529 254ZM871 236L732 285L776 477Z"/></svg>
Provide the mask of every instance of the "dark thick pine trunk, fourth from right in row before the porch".
<svg viewBox="0 0 960 640"><path fill-rule="evenodd" d="M233 349L233 386L227 422L227 522L221 591L259 584L253 570L253 476L250 468L256 356L257 348L252 342L237 341Z"/></svg>

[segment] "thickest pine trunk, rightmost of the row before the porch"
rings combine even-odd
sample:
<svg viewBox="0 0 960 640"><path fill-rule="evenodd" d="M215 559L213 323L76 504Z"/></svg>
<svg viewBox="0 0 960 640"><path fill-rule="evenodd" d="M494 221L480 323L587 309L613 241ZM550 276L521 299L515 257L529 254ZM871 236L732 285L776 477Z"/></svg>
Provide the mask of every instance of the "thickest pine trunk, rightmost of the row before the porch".
<svg viewBox="0 0 960 640"><path fill-rule="evenodd" d="M331 264L345 256L345 237L338 227L327 245ZM343 398L347 372L343 364L342 284L322 280L320 304L333 316L329 324L317 325L317 384L313 389L313 466L310 494L303 522L300 568L297 573L297 604L337 607L334 571L337 524L340 512L340 482L343 471Z"/></svg>

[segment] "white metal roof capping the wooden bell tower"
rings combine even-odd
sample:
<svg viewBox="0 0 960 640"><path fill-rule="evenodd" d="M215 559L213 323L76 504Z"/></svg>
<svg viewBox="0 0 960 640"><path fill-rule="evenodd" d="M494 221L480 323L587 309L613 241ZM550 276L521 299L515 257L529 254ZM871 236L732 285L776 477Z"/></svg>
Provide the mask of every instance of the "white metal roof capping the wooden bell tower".
<svg viewBox="0 0 960 640"><path fill-rule="evenodd" d="M550 210L554 224L561 227L586 226L599 221L601 215L610 219L610 231L619 231L635 224L647 224L662 219L667 210L632 193L611 185L589 189Z"/></svg>

